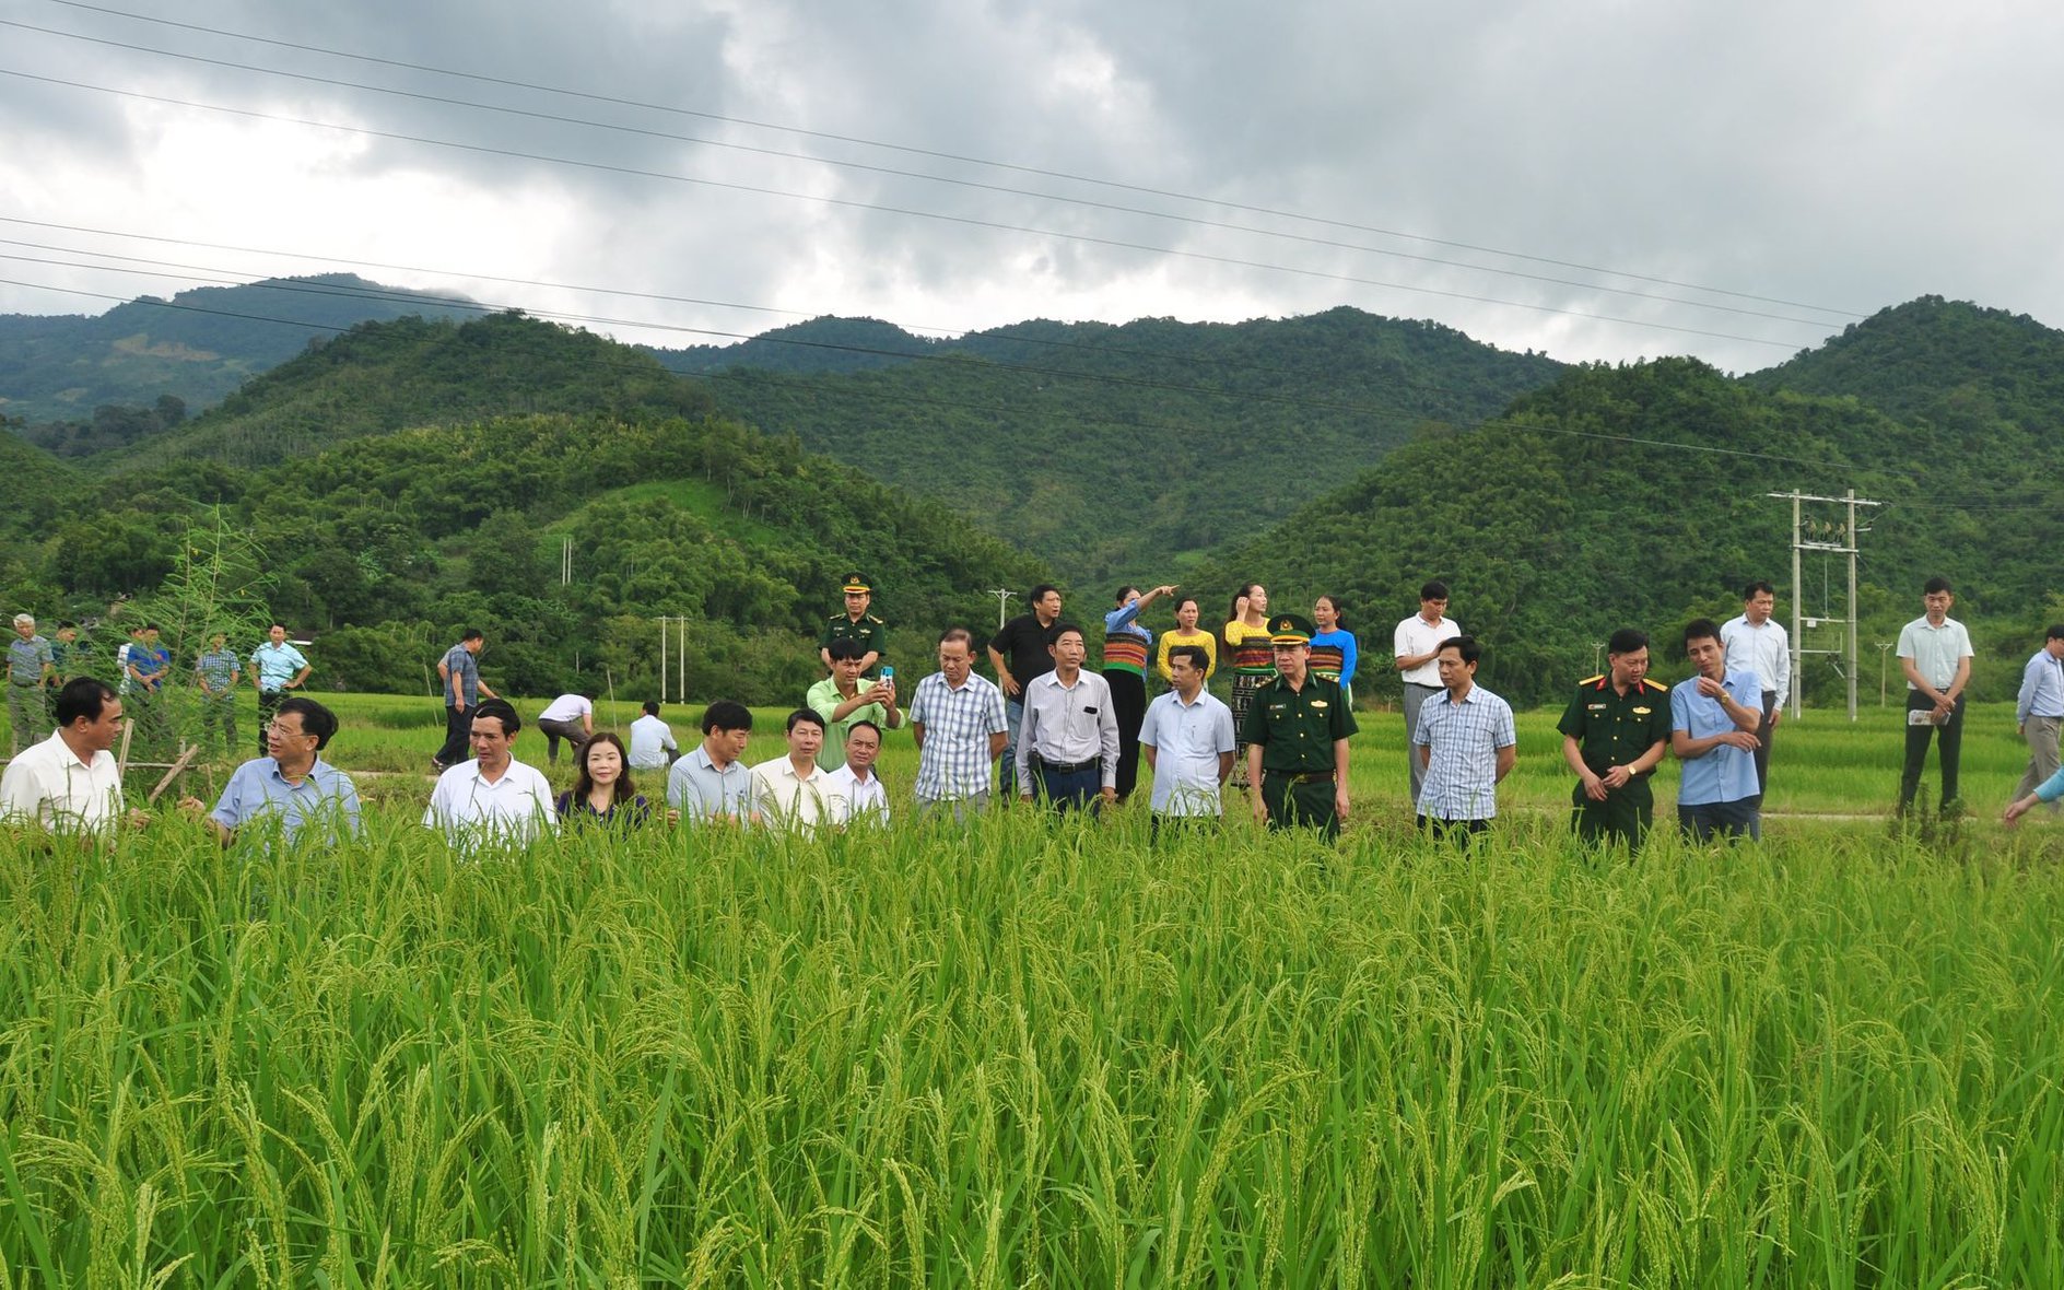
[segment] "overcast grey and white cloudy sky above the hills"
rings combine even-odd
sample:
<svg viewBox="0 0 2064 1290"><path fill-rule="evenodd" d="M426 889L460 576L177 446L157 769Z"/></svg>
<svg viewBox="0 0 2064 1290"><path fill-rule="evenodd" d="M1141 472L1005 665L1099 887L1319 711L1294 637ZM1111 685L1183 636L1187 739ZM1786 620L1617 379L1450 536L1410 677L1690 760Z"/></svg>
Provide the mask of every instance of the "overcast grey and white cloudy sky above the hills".
<svg viewBox="0 0 2064 1290"><path fill-rule="evenodd" d="M1348 303L1734 372L2064 322L2064 6L1697 10L0 0L0 312L351 268L658 345Z"/></svg>

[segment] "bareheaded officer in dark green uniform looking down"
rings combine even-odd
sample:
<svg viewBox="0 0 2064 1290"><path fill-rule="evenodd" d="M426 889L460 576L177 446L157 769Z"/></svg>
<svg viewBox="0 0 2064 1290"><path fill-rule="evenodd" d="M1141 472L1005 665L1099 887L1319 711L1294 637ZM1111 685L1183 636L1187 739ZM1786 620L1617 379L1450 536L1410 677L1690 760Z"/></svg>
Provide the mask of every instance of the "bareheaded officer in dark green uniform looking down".
<svg viewBox="0 0 2064 1290"><path fill-rule="evenodd" d="M1670 747L1670 687L1649 681L1649 636L1620 627L1606 642L1608 669L1577 685L1556 729L1577 772L1571 824L1585 842L1641 848L1655 815L1649 778Z"/></svg>

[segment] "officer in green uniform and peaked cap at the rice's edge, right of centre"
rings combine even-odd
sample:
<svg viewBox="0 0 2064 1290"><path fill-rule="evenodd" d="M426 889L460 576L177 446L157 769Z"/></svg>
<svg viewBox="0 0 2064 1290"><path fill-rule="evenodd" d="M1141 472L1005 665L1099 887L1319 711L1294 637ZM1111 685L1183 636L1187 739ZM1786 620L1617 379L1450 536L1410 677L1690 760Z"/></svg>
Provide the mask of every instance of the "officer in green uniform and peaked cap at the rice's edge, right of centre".
<svg viewBox="0 0 2064 1290"><path fill-rule="evenodd" d="M1311 673L1311 621L1269 619L1276 679L1247 708L1247 795L1255 821L1315 828L1331 842L1348 819L1348 737L1354 712L1340 681Z"/></svg>

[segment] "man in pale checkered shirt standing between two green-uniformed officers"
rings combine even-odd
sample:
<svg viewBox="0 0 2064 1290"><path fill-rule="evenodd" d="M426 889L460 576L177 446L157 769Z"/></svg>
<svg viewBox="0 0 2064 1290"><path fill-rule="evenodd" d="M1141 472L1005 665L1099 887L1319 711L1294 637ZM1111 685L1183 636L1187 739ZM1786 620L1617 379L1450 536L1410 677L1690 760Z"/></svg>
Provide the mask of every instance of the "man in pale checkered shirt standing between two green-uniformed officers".
<svg viewBox="0 0 2064 1290"><path fill-rule="evenodd" d="M1434 650L1441 698L1418 712L1412 733L1426 774L1414 809L1418 826L1434 838L1459 836L1470 844L1498 817L1498 782L1519 760L1513 706L1476 683L1484 656L1474 636L1451 636Z"/></svg>

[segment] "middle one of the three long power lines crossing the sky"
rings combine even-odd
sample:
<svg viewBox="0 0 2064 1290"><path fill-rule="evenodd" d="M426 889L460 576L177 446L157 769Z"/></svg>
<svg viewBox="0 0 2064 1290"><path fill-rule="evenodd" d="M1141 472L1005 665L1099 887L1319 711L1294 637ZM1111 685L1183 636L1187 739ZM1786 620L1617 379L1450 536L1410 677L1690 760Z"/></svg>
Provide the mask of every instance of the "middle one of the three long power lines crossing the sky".
<svg viewBox="0 0 2064 1290"><path fill-rule="evenodd" d="M582 128L590 128L590 130L613 130L613 132L619 132L619 134L638 134L638 136L644 136L644 138L665 138L665 140L671 140L671 142L689 142L689 144L708 147L708 149L727 149L727 151L737 151L737 153L753 153L753 155L760 155L760 157L778 157L778 159L788 159L788 161L809 161L809 163L815 163L815 165L834 165L834 167L859 169L859 171L867 171L867 173L875 173L875 175L894 175L894 178L902 178L902 180L921 180L921 182L927 182L927 184L952 184L952 186L958 186L958 188L974 188L974 190L980 190L980 192L997 192L997 194L1007 194L1007 196L1030 196L1030 198L1038 198L1038 200L1044 200L1044 202L1065 202L1065 204L1075 204L1075 206L1088 206L1088 208L1094 208L1094 211L1110 211L1110 213L1117 213L1117 215L1139 215L1139 217L1146 217L1146 219L1162 219L1162 221L1197 225L1197 227L1207 227L1207 229L1222 229L1222 231L1234 231L1234 233L1253 233L1257 237L1278 237L1278 239L1284 239L1284 241L1298 241L1298 244L1319 246L1319 248L1327 248L1327 250L1350 250L1350 252L1364 252L1364 254L1373 254L1373 256L1391 256L1391 258L1397 258L1397 260L1412 260L1412 262L1418 262L1418 264L1437 264L1437 266L1445 266L1445 268L1463 268L1468 272L1486 272L1486 275L1496 275L1496 277L1521 279L1521 281L1529 281L1529 283L1546 283L1546 285L1554 285L1554 287L1575 287L1579 291L1595 291L1595 293L1606 293L1606 295L1626 295L1626 297L1633 297L1633 299L1647 299L1647 301L1657 301L1657 303L1674 303L1674 305L1684 305L1684 308L1692 308L1692 310L1713 310L1713 312L1719 312L1719 314L1736 314L1736 316L1742 316L1742 318L1765 318L1765 320L1771 320L1771 322L1796 322L1800 326L1827 326L1827 322L1820 320L1820 318L1796 318L1796 316L1789 316L1789 314L1771 314L1769 310L1750 310L1750 308L1742 308L1742 305L1723 305L1723 303L1713 303L1713 301L1684 299L1684 297L1678 297L1678 295L1662 295L1662 293L1655 293L1655 291L1637 291L1637 289L1631 289L1631 287L1608 287L1608 285L1602 285L1602 283L1581 283L1581 281L1575 281L1575 279L1558 279L1558 277L1542 275L1542 272L1523 272L1523 270L1517 270L1517 268L1496 268L1496 266L1490 266L1490 264L1472 264L1468 260L1449 260L1449 258L1441 258L1441 256L1420 256L1420 254L1414 254L1414 252L1399 252L1399 250L1381 248L1381 246L1366 246L1366 244L1358 244L1358 241L1342 241L1337 237L1313 237L1313 235L1307 235L1307 233L1286 233L1286 231L1280 231L1280 229L1261 229L1261 227L1255 227L1255 225L1243 225L1243 223L1232 223L1232 221L1224 221L1224 219L1205 219L1205 217L1197 217L1197 215L1174 215L1174 213L1168 213L1168 211L1148 211L1143 206L1123 206L1123 204L1117 204L1117 202L1098 202L1098 200L1092 200L1092 198L1077 198L1077 196L1067 196L1067 194L1057 194L1057 192L1038 192L1038 190L1030 190L1030 188L1009 188L1005 184L982 184L978 180L958 180L958 178L952 178L952 175L931 175L931 173L923 173L923 171L898 169L898 167L888 167L888 165L871 165L871 163L865 163L865 161L844 161L844 159L836 159L836 157L817 157L817 155L811 155L811 153L793 153L793 151L782 151L782 149L766 149L766 147L755 147L755 144L745 144L745 142L731 142L731 140L720 140L720 138L702 138L702 136L696 136L696 134L673 134L669 130L646 130L646 128L640 128L640 126L623 126L623 124L615 124L615 122L596 122L596 120L586 120L586 118L561 116L561 114L553 114L553 111L535 111L535 109L526 109L526 107L508 107L508 105L499 105L499 103L477 103L477 101L471 101L471 99L454 99L454 97L448 97L448 95L431 95L431 93L421 93L421 91L411 91L411 89L394 89L394 87L386 87L386 85L365 85L361 80L343 80L343 78L336 78L336 76L314 76L314 74L308 74L308 72L289 72L289 70L283 70L283 68L262 68L262 66L244 64L244 62L229 62L229 60L223 60L223 58L206 58L206 56L200 56L200 54L182 54L178 50L159 50L155 45L136 45L136 43L128 43L128 41L116 41L116 39L105 39L105 37L95 37L95 35L83 35L83 33L76 33L76 31L58 31L54 27L35 27L31 23L21 23L21 21L14 21L14 19L0 19L0 27L14 27L14 29L21 29L21 31L35 31L35 33L41 33L41 35L56 35L56 37L64 37L64 39L76 39L76 41L95 43L95 45L109 45L109 47L116 47L116 50L130 50L130 52L136 52L136 54L151 54L151 56L157 56L157 58L178 58L178 60L186 60L186 62L198 62L198 64L217 66L217 68L229 68L229 70L237 70L237 72L254 72L254 74L260 74L260 76L281 76L281 78L289 78L289 80L305 80L305 83L312 83L312 85L328 85L328 87L336 87L336 89L357 89L357 91L365 91L365 93L392 95L392 97L400 97L400 99L415 99L415 101L421 101L421 103L442 103L442 105L448 105L448 107L471 107L475 111L495 111L495 114L504 114L504 116L518 116L518 118L526 118L526 120L553 122L553 124L563 124L563 126L582 126ZM1856 314L1847 314L1845 310L1823 310L1823 312L1856 316Z"/></svg>

